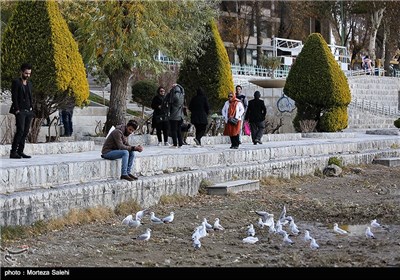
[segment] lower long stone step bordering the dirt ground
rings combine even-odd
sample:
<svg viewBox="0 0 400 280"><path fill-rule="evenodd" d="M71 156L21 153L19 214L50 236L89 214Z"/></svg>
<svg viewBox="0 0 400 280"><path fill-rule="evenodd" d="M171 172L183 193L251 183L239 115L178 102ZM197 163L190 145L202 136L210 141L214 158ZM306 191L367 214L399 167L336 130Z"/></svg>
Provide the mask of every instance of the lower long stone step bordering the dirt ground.
<svg viewBox="0 0 400 280"><path fill-rule="evenodd" d="M241 162L218 168L139 177L133 182L109 179L0 194L0 226L30 225L39 220L60 218L72 209L99 206L115 209L120 203L131 200L148 208L157 204L163 195L195 196L204 180L214 184L237 178L255 180L272 176L290 179L292 176L311 175L317 169L322 171L331 156L305 156L246 164ZM349 153L340 157L344 165L358 165L370 164L377 157L394 156L400 157L400 149Z"/></svg>

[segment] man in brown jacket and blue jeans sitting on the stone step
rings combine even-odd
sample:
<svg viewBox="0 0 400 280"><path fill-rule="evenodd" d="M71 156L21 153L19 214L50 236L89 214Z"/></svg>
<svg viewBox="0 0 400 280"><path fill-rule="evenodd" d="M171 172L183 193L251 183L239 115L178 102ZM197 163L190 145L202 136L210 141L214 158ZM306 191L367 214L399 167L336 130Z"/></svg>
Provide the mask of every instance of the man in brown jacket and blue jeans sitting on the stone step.
<svg viewBox="0 0 400 280"><path fill-rule="evenodd" d="M104 159L114 160L122 158L121 165L121 179L127 181L137 180L138 177L131 174L131 170L134 164L135 151L142 152L143 147L130 146L128 143L128 137L138 127L138 124L134 120L130 120L126 125L117 126L107 137L101 150L101 157Z"/></svg>

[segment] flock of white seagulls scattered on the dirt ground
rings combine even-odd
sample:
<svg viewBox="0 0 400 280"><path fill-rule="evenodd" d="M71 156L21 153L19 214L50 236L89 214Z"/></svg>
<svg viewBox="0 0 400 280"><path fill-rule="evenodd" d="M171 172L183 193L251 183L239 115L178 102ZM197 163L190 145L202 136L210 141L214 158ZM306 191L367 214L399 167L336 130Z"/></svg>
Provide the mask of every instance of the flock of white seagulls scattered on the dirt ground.
<svg viewBox="0 0 400 280"><path fill-rule="evenodd" d="M128 215L122 220L122 224L129 227L138 228L140 225L142 225L142 219L148 212L149 212L148 209L144 209L138 211L135 214L135 217L133 217L133 215ZM274 214L268 213L266 211L254 211L254 212L259 216L257 222L258 227L260 229L268 227L268 232L270 234L281 235L282 242L285 245L292 245L294 243L289 236L298 236L301 233L299 228L294 222L294 218L292 216L286 215L285 206L283 206L282 212L279 216L279 219L277 219L276 223L274 221ZM150 221L152 224L172 223L174 221L174 212L170 212L170 214L164 218L158 218L156 217L154 212L150 212ZM289 233L288 231L283 229L283 226L288 227ZM376 219L372 220L370 225L367 226L365 229L365 237L368 239L375 238L371 228L383 228L383 227L377 222ZM192 241L193 241L192 246L196 249L199 249L201 247L200 239L206 237L208 235L208 232L223 231L223 230L224 227L220 224L219 218L216 218L214 224L212 225L208 223L206 218L204 218L201 224L197 226L192 233ZM333 232L338 235L349 234L348 231L341 229L337 223L334 223L333 225ZM151 237L151 229L147 228L143 234L140 234L139 236L136 237L136 240L148 241L150 237ZM319 248L317 241L315 240L315 238L311 236L309 230L304 230L303 240L305 242L309 242L309 246L312 250L316 250ZM255 244L258 241L259 238L256 237L256 230L254 228L254 225L250 224L249 226L247 226L247 236L242 239L242 242L247 244Z"/></svg>

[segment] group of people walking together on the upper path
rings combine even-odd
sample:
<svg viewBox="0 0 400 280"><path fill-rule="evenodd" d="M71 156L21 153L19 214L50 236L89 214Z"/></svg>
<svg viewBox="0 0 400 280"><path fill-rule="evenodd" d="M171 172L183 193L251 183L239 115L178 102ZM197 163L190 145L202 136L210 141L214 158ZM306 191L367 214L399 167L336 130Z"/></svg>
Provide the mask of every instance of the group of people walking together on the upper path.
<svg viewBox="0 0 400 280"><path fill-rule="evenodd" d="M259 91L254 93L254 99L248 101L242 94L242 87L237 85L235 93L228 94L228 100L222 108L222 116L225 120L224 135L230 137L231 149L238 149L241 144L244 121L250 124L251 137L254 145L262 144L261 138L265 129L266 106L260 99ZM173 146L181 147L184 144L181 127L185 117L185 93L180 85L173 85L166 94L164 87L157 89L156 96L152 100L153 127L156 129L158 145L169 146L168 137L171 136ZM190 122L195 127L194 142L201 146L201 138L205 135L208 125L210 105L203 88L196 90L196 95L190 100L188 108L191 112Z"/></svg>

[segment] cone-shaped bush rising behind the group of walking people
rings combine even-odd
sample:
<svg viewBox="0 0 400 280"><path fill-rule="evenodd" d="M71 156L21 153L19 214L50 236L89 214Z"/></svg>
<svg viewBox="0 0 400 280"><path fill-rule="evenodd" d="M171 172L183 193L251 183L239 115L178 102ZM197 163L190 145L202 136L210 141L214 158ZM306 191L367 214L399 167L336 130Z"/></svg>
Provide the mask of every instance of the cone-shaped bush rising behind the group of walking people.
<svg viewBox="0 0 400 280"><path fill-rule="evenodd" d="M196 56L196 61L182 63L178 83L185 88L188 101L196 94L197 87L203 87L212 111L220 112L228 92L234 91L232 70L214 20L207 26L207 31L210 37L203 43L204 53Z"/></svg>

